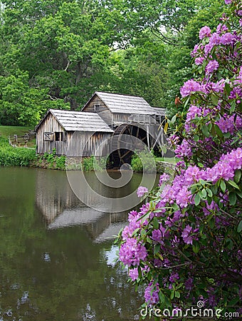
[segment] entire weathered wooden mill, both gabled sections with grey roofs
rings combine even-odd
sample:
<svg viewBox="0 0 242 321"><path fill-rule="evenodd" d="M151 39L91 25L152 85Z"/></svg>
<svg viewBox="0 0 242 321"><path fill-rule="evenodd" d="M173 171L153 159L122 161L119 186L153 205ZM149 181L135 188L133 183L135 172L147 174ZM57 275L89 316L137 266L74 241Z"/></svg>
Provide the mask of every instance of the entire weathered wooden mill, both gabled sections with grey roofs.
<svg viewBox="0 0 242 321"><path fill-rule="evenodd" d="M92 156L107 138L114 137L111 141L117 146L105 148L117 149L115 162L120 158L120 164L128 163L128 147L119 144L120 136L135 136L154 148L162 143L163 131L158 128L163 119L164 108L149 106L142 97L96 91L81 111L50 109L46 113L36 126L37 153L55 149L57 155Z"/></svg>

